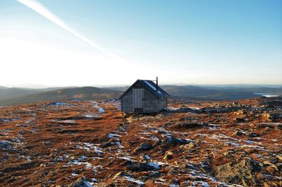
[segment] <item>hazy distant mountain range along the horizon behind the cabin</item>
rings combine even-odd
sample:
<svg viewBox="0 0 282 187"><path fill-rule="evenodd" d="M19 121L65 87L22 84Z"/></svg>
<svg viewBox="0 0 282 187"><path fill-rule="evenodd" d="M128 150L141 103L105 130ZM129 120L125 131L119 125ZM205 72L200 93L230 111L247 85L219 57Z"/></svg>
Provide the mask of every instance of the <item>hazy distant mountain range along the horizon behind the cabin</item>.
<svg viewBox="0 0 282 187"><path fill-rule="evenodd" d="M127 88L70 87L31 89L0 87L0 106L66 99L105 100L118 97ZM255 93L282 95L282 88L266 87L223 88L194 85L161 85L161 88L166 90L172 98L183 97L186 99L236 100L260 97L260 95Z"/></svg>

